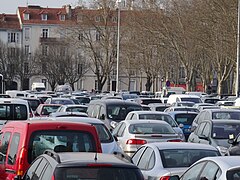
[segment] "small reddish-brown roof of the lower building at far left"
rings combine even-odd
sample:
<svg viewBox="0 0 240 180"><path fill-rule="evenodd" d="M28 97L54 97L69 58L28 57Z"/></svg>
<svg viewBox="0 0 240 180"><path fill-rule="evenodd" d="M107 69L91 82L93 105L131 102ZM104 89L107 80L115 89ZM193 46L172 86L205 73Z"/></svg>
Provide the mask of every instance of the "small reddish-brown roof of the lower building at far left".
<svg viewBox="0 0 240 180"><path fill-rule="evenodd" d="M0 14L0 29L20 31L20 23L16 14Z"/></svg>

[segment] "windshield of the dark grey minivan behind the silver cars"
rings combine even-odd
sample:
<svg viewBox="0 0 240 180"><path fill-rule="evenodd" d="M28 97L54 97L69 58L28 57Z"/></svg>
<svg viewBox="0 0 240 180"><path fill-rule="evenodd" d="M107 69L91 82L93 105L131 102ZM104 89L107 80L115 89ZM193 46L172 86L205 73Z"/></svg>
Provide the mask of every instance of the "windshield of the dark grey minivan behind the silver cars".
<svg viewBox="0 0 240 180"><path fill-rule="evenodd" d="M109 119L119 122L124 120L129 112L141 110L141 106L111 105L107 107L107 116Z"/></svg>

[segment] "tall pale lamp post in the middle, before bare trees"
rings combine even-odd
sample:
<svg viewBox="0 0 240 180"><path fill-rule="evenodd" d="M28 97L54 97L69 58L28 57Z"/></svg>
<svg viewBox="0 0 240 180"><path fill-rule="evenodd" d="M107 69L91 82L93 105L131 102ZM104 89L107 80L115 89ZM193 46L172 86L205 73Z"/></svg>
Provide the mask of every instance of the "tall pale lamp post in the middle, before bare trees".
<svg viewBox="0 0 240 180"><path fill-rule="evenodd" d="M118 24L117 24L117 74L116 74L116 92L119 91L119 51L120 51L120 3L121 0L116 1L118 8Z"/></svg>

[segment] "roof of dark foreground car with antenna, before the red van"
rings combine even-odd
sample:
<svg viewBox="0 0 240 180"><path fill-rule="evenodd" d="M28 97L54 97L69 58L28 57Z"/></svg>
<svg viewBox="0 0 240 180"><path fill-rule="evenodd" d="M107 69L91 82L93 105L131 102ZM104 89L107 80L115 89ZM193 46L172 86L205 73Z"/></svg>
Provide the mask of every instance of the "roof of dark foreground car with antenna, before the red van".
<svg viewBox="0 0 240 180"><path fill-rule="evenodd" d="M58 167L64 166L66 164L72 166L89 164L99 164L99 166L101 166L101 164L111 164L112 166L137 168L134 164L123 161L112 154L90 152L63 152L57 153L57 155L59 156L61 162Z"/></svg>

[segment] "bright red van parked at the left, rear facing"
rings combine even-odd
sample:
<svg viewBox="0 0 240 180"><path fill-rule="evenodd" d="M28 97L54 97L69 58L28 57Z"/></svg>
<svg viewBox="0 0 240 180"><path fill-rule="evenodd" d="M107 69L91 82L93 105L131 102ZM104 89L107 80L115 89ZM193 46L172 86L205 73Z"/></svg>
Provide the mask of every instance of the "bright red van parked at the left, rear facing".
<svg viewBox="0 0 240 180"><path fill-rule="evenodd" d="M46 149L102 152L95 127L62 121L11 121L1 130L0 146L0 165L6 168L8 179L23 176Z"/></svg>

